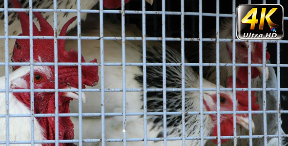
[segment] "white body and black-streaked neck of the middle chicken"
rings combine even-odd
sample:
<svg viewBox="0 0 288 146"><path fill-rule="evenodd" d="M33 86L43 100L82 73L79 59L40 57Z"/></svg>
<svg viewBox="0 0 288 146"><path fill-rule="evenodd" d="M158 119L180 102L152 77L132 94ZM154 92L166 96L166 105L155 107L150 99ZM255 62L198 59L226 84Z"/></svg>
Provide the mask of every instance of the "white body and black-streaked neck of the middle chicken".
<svg viewBox="0 0 288 146"><path fill-rule="evenodd" d="M121 25L112 24L109 20L104 20L104 36L121 36ZM94 24L99 24L97 19ZM142 36L141 31L133 25L125 25L126 37ZM109 29L105 29L109 28ZM83 30L83 29L82 29ZM76 34L70 33L69 36ZM99 26L93 29L83 30L82 36L98 36ZM121 40L104 40L104 62L122 62L122 42ZM66 40L65 47L67 49L75 49L77 41ZM82 50L90 49L90 52L83 52L83 56L100 58L100 40L82 40ZM125 58L126 63L142 62L142 41L125 41ZM146 61L150 63L162 62L162 44L157 41L146 42ZM166 48L166 62L181 62L181 55L169 47ZM147 66L147 88L163 88L162 82L162 66ZM101 71L99 71L100 73ZM143 88L143 69L138 66L126 66L126 88L141 89ZM195 73L191 67L185 67L185 88L199 88L199 75ZM121 89L123 84L122 67L121 66L105 66L104 67L104 88L105 89ZM181 88L181 67L166 67L166 86L167 88ZM216 85L203 81L204 88L216 88ZM101 82L96 88L101 88ZM106 112L122 112L123 111L123 93L122 92L105 92L105 113ZM216 91L204 91L204 100L207 109L216 111ZM232 92L223 91L221 94L227 95L227 101L232 104ZM100 92L86 92L87 102L82 104L82 112L94 113L101 112L101 94ZM222 96L222 95L221 95ZM167 92L166 95L167 111L181 111L181 92ZM75 108L78 103L71 103L71 112L78 112ZM238 104L237 104L238 105ZM186 92L185 110L200 111L199 92ZM222 106L221 110L232 110L232 105L229 108ZM237 107L238 109L238 107ZM147 111L162 112L163 111L163 92L147 92ZM126 92L126 112L143 112L143 92ZM222 115L221 118L227 118ZM237 117L239 124L241 121L247 124L247 118ZM71 117L75 124L75 138L79 129L76 125L79 122L77 117ZM181 137L182 134L182 116L167 115L167 135L168 137ZM229 119L229 118L228 118ZM186 136L200 136L200 115L186 115ZM246 122L244 122L246 121ZM101 138L101 119L83 117L82 118L82 139L100 139ZM105 138L123 138L123 117L105 117ZM244 125L247 128L247 125ZM126 116L126 134L127 138L143 138L144 137L144 120L143 116ZM210 115L204 115L204 136L211 136L215 121ZM253 126L252 126L253 127ZM228 128L227 128L228 129ZM233 128L230 130L233 131ZM163 137L163 117L162 116L147 116L147 132L148 137ZM222 132L225 132L224 130ZM223 134L223 133L222 133ZM206 140L205 140L206 143ZM99 143L83 143L87 146L98 146ZM168 141L168 146L180 146L182 141ZM105 143L106 146L121 146L123 143ZM127 142L127 146L142 146L143 142ZM163 145L160 142L148 142L149 146ZM200 140L186 141L186 146L199 146Z"/></svg>

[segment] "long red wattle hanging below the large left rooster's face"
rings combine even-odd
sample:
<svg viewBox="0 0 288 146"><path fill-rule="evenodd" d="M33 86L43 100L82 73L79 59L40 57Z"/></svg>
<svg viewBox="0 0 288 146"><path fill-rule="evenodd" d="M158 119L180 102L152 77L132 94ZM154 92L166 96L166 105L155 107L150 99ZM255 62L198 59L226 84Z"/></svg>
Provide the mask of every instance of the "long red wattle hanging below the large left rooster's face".
<svg viewBox="0 0 288 146"><path fill-rule="evenodd" d="M15 88L21 89L21 88ZM30 92L15 92L13 95L30 109ZM69 103L73 100L69 97L61 97L59 94L59 113L70 113ZM38 95L35 96L34 113L55 113L55 96L40 101ZM42 103L46 104L42 104ZM47 140L55 140L55 117L37 117L36 118L43 128L43 135ZM74 138L74 125L70 117L59 117L59 140L69 140ZM55 146L55 144L42 144L42 146ZM59 146L71 146L71 143L60 143Z"/></svg>

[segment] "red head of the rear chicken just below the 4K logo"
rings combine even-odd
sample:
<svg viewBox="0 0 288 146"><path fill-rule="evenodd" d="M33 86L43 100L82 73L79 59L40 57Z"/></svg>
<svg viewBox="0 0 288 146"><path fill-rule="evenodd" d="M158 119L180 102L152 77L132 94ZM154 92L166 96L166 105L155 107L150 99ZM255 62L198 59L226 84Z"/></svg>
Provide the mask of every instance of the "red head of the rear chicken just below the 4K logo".
<svg viewBox="0 0 288 146"><path fill-rule="evenodd" d="M227 43L227 51L232 60L232 43ZM236 60L241 63L248 63L248 45L246 42L236 42ZM251 63L262 64L263 63L263 43L255 42L251 43ZM266 51L266 60L270 58L269 53ZM266 68L268 70L268 68ZM251 67L251 78L256 78L263 73L262 67ZM268 78L268 71L266 72ZM239 67L238 78L243 83L248 83L248 67Z"/></svg>

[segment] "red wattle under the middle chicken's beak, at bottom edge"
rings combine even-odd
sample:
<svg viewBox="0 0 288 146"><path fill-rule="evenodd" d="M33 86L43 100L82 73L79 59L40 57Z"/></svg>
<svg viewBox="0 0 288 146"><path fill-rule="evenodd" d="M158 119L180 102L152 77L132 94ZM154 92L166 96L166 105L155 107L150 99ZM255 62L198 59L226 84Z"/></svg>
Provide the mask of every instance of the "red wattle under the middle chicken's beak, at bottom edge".
<svg viewBox="0 0 288 146"><path fill-rule="evenodd" d="M233 135L233 121L231 119L222 121L220 123L220 129L221 129L221 136L232 136ZM217 124L213 128L212 136L218 136L217 135ZM221 139L221 144L224 144L229 139ZM217 139L213 139L212 142L214 144L217 144Z"/></svg>

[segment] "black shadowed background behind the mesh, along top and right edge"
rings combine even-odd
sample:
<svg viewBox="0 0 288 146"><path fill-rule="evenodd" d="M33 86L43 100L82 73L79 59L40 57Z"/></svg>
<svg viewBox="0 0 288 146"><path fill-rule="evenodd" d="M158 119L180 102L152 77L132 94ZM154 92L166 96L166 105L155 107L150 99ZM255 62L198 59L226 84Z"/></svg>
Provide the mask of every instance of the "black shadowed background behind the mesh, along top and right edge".
<svg viewBox="0 0 288 146"><path fill-rule="evenodd" d="M260 4L263 0L251 0L251 3ZM125 5L125 10L142 10L142 0L131 0ZM180 0L166 0L166 11L181 11ZM203 0L203 13L216 13L216 0ZM266 3L277 3L276 0L266 0ZM236 0L238 4L247 4L247 0ZM280 3L284 8L284 17L288 17L288 1L281 0ZM120 10L120 9L119 9ZM154 0L152 6L146 3L146 11L162 11L162 0ZM268 10L267 10L268 11ZM185 0L185 12L199 12L198 0ZM232 0L220 0L220 14L232 14ZM121 15L117 15L121 20ZM180 15L166 15L166 37L181 37L181 17ZM221 18L220 18L221 19ZM134 23L142 29L141 14L125 14L126 23ZM282 40L288 40L288 34L285 26L288 26L288 20L284 20L284 37ZM258 26L259 27L259 26ZM129 28L125 28L129 29ZM211 32L215 32L216 17L203 16L203 37L207 38ZM198 16L185 16L185 37L199 37L199 18ZM150 37L162 37L162 15L146 14L146 33ZM193 43L185 41L185 49ZM194 42L195 43L195 42ZM180 41L167 41L166 44L173 48L180 48ZM276 64L276 43L267 43L267 51L270 54L270 61ZM178 49L179 50L179 49ZM280 63L288 64L288 44L280 44ZM276 71L276 68L274 68ZM288 88L288 68L280 69L280 87ZM288 92L281 91L281 109L288 110ZM281 114L283 124L282 128L288 133L288 114Z"/></svg>

